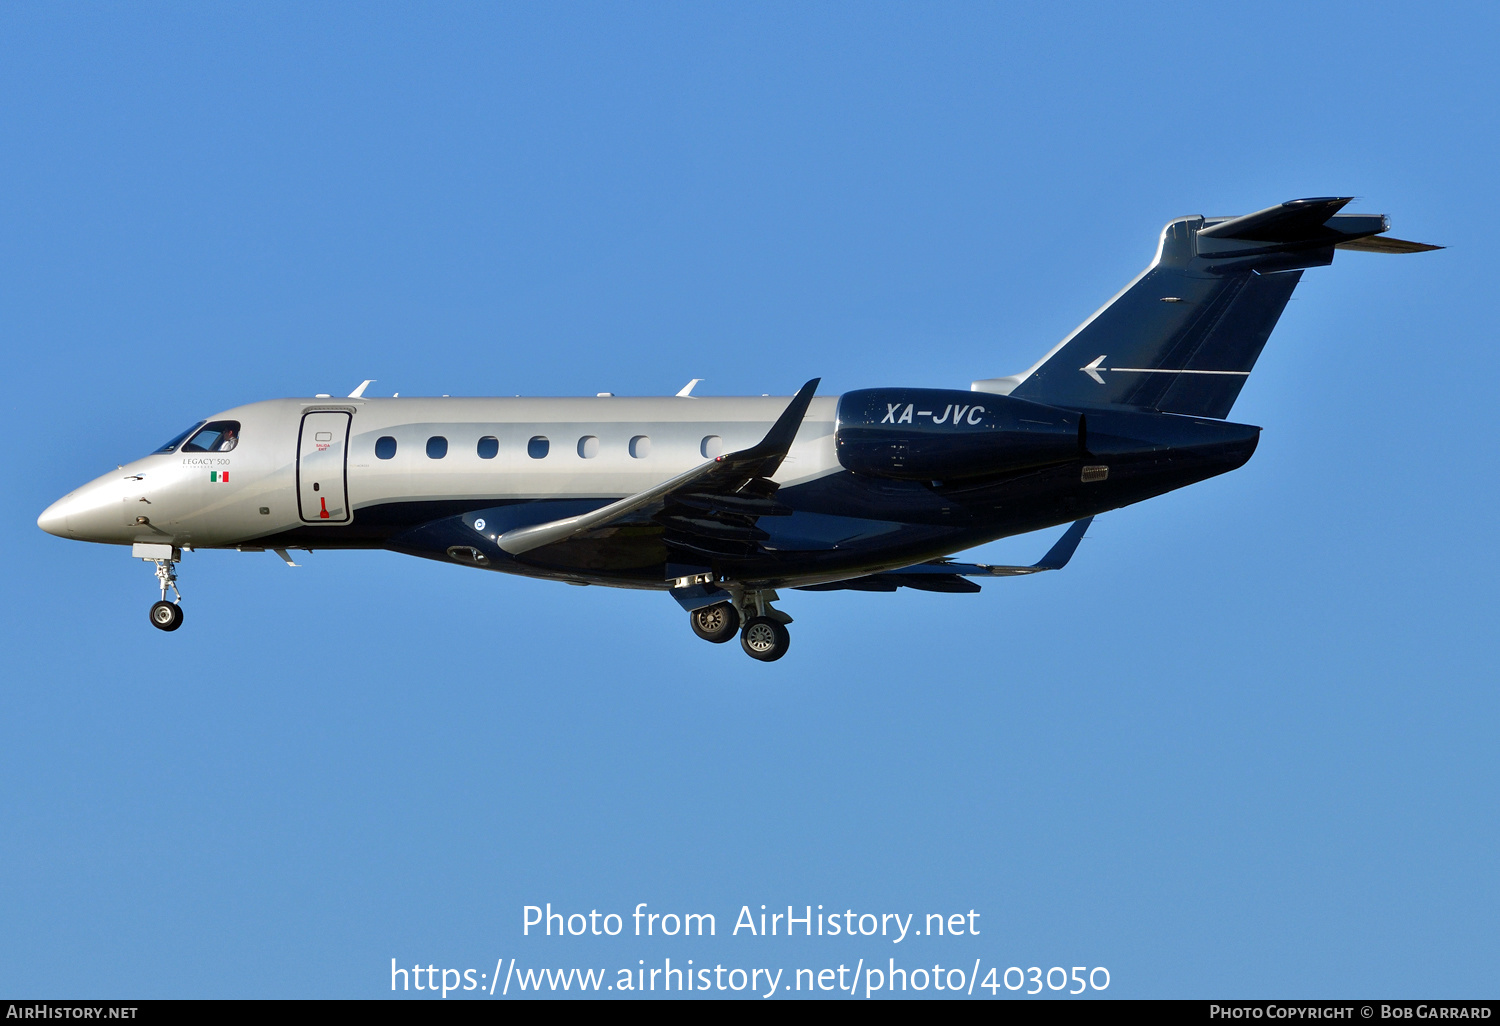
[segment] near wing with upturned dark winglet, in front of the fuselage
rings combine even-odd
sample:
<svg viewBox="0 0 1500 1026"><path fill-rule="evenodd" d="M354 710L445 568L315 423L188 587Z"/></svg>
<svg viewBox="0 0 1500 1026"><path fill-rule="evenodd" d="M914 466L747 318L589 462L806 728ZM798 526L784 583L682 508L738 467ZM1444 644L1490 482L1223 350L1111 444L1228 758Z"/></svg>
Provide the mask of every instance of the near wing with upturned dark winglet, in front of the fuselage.
<svg viewBox="0 0 1500 1026"><path fill-rule="evenodd" d="M813 378L804 384L765 438L750 448L718 456L592 513L506 531L496 544L520 555L572 543L584 555L582 549L591 546L580 543L624 534L621 542L636 538L648 548L664 544L668 558L676 562L752 555L756 543L768 537L754 526L756 518L792 512L776 501L778 486L770 478L792 448L819 381Z"/></svg>

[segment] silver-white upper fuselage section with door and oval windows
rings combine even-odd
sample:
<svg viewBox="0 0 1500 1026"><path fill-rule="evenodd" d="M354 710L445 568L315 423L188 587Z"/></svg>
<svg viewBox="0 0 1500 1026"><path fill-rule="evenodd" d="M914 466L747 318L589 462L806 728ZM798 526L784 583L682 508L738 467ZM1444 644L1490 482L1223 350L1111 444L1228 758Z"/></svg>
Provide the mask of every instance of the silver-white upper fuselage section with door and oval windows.
<svg viewBox="0 0 1500 1026"><path fill-rule="evenodd" d="M357 524L360 510L392 502L614 500L753 446L786 404L771 396L272 399L210 418L240 424L232 450L146 456L69 492L38 524L87 542L213 548ZM813 399L777 483L840 470L836 405ZM318 411L348 414L328 418L348 424L346 441L334 430L318 432L332 435L327 442L314 440L308 414ZM382 438L394 440L388 458L376 454ZM546 440L544 454L537 438ZM446 452L429 456L429 440L444 440L432 452ZM486 442L494 456L482 454L482 440L494 440ZM342 462L328 472L344 478L312 482L320 458L330 468Z"/></svg>

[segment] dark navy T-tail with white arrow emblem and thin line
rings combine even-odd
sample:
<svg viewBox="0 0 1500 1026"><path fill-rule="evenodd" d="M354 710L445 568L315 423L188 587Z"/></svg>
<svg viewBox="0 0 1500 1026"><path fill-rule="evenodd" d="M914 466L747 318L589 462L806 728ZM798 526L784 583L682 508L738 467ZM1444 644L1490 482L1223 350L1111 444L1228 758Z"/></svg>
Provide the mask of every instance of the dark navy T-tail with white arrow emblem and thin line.
<svg viewBox="0 0 1500 1026"><path fill-rule="evenodd" d="M1178 218L1136 280L1024 374L975 381L1059 406L1228 416L1308 267L1335 249L1416 254L1383 214L1338 213L1350 196L1292 200L1239 218Z"/></svg>

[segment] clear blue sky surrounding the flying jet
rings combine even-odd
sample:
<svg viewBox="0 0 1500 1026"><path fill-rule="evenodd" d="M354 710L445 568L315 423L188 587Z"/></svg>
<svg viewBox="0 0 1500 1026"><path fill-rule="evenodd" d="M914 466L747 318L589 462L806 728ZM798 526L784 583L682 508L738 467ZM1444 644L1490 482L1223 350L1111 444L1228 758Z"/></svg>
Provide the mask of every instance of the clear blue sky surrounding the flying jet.
<svg viewBox="0 0 1500 1026"><path fill-rule="evenodd" d="M0 993L381 996L663 957L1494 996L1485 4L9 4ZM1250 465L981 596L668 598L200 552L150 628L54 498L255 399L964 387L1173 216L1356 195ZM975 555L1032 561L1052 542ZM981 912L537 940L520 909ZM765 939L770 942L770 939ZM1008 992L1004 988L1000 994Z"/></svg>

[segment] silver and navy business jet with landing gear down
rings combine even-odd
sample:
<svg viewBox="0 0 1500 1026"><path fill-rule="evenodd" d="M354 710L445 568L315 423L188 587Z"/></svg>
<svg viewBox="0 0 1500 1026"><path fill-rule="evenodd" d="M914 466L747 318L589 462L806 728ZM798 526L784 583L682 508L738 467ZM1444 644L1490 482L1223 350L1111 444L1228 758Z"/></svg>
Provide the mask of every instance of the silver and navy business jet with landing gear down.
<svg viewBox="0 0 1500 1026"><path fill-rule="evenodd" d="M1030 369L957 388L790 399L272 399L196 422L38 518L156 567L184 550L388 549L662 591L708 642L788 651L780 591L975 592L1062 568L1094 516L1244 465L1227 420L1292 291L1338 249L1412 254L1344 196L1178 218L1150 264ZM952 560L1070 524L1032 566ZM172 598L168 600L168 591Z"/></svg>

